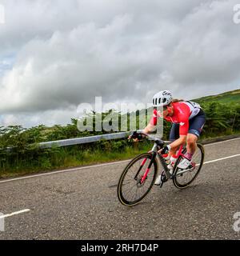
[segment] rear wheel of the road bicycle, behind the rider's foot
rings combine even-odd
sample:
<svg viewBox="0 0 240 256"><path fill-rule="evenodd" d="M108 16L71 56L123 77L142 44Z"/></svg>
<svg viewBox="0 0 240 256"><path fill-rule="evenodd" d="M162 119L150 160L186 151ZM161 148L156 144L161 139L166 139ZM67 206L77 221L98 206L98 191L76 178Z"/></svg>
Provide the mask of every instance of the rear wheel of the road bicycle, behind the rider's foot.
<svg viewBox="0 0 240 256"><path fill-rule="evenodd" d="M194 156L191 160L191 166L186 169L182 170L179 169L178 163L182 161L182 157L180 156L174 165L174 186L178 187L178 189L186 188L189 186L190 183L194 182L194 179L197 178L203 164L204 160L204 148L201 144L197 144L197 150L194 153ZM183 151L182 153L185 153Z"/></svg>

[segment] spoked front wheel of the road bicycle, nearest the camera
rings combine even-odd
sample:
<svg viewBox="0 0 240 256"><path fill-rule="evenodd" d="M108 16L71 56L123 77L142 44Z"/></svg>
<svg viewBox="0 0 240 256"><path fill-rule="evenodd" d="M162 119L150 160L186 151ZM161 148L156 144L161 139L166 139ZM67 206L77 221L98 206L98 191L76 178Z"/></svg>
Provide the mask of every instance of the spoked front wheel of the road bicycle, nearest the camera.
<svg viewBox="0 0 240 256"><path fill-rule="evenodd" d="M143 182L142 177L146 174L152 157L153 154L150 153L139 154L123 170L118 182L118 200L123 205L135 206L150 192L158 172L156 158Z"/></svg>

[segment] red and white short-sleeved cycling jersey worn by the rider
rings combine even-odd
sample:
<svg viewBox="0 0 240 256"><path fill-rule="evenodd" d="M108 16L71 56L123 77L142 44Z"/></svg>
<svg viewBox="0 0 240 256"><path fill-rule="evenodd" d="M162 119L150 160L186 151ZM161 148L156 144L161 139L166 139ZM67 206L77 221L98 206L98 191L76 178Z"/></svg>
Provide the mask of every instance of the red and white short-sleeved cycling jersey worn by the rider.
<svg viewBox="0 0 240 256"><path fill-rule="evenodd" d="M189 120L199 113L201 106L196 102L175 102L172 104L174 106L174 115L172 117L166 116L164 119L168 122L179 123L179 134L186 135L189 129ZM150 124L156 126L158 117L161 117L160 112L154 110Z"/></svg>

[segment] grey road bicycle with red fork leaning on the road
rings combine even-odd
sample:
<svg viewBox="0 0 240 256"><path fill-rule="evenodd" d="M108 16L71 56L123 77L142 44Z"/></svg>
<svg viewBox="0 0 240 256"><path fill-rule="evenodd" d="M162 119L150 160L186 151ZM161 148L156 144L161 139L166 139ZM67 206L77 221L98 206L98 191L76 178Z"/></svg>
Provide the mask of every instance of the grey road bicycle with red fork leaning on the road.
<svg viewBox="0 0 240 256"><path fill-rule="evenodd" d="M166 142L158 137L139 132L138 135L154 140L154 146L148 153L139 154L132 159L122 172L118 181L118 200L125 206L135 206L142 201L154 186L158 174L158 162L162 165L160 187L169 180L174 186L183 189L189 186L197 178L204 160L204 148L197 143L197 150L186 170L178 168L178 163L185 158L186 146L180 146L177 153L177 160L174 163L172 174L167 167L166 159L158 150L165 146ZM157 158L159 161L157 161Z"/></svg>

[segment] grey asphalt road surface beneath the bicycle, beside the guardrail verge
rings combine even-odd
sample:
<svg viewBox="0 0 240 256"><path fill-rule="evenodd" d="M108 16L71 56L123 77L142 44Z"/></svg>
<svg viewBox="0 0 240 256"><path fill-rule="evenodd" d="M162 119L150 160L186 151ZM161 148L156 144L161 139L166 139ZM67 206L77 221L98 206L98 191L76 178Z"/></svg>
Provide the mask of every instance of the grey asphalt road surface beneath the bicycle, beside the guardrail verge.
<svg viewBox="0 0 240 256"><path fill-rule="evenodd" d="M116 193L127 162L0 180L0 212L14 213L0 239L240 239L240 139L205 149L193 185L154 186L134 207Z"/></svg>

